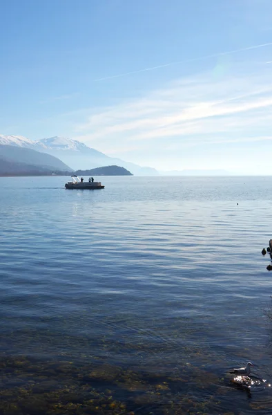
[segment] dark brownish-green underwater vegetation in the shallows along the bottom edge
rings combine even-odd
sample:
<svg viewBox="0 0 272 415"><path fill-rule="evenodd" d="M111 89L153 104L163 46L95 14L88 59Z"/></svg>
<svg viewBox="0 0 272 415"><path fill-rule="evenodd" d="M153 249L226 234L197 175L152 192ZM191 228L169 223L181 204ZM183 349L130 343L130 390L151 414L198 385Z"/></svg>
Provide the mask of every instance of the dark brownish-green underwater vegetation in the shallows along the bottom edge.
<svg viewBox="0 0 272 415"><path fill-rule="evenodd" d="M215 374L192 365L169 376L101 362L10 356L0 367L3 415L208 415L218 413L220 397L233 393Z"/></svg>

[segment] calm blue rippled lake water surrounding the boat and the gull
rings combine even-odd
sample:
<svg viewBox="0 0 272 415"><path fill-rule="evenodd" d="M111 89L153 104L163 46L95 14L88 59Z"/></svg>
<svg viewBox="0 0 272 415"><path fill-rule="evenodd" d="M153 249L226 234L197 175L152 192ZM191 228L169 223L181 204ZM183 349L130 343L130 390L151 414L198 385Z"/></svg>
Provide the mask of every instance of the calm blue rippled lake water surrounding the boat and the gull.
<svg viewBox="0 0 272 415"><path fill-rule="evenodd" d="M0 178L0 413L271 414L272 178L67 180Z"/></svg>

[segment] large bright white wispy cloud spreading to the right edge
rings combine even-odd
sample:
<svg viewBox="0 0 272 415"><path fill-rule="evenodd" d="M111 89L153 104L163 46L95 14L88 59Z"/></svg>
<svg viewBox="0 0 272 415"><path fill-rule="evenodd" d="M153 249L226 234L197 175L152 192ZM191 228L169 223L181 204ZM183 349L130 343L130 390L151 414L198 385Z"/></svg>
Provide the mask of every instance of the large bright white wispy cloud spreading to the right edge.
<svg viewBox="0 0 272 415"><path fill-rule="evenodd" d="M262 66L222 79L203 73L176 80L141 99L93 109L78 124L86 144L139 163L141 154L181 156L186 149L271 142L272 78ZM213 151L215 151L213 149Z"/></svg>

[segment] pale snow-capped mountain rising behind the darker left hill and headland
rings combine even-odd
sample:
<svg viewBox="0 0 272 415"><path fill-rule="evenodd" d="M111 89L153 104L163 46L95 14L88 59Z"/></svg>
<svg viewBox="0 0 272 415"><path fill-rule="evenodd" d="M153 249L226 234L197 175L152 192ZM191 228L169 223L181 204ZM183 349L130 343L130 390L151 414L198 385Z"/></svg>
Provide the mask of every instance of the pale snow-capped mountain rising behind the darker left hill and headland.
<svg viewBox="0 0 272 415"><path fill-rule="evenodd" d="M23 136L4 136L0 135L0 156L2 147L18 147L21 149L31 149L43 153L43 155L59 158L66 167L62 170L70 171L77 169L93 169L106 165L118 165L128 169L137 176L156 176L157 170L151 167L141 167L134 163L106 156L93 148L86 146L83 142L71 140L64 137L43 138L33 141ZM32 154L34 156L34 154ZM18 162L22 162L19 158ZM30 163L32 164L32 163ZM69 166L69 167L68 167ZM56 167L55 167L56 169Z"/></svg>

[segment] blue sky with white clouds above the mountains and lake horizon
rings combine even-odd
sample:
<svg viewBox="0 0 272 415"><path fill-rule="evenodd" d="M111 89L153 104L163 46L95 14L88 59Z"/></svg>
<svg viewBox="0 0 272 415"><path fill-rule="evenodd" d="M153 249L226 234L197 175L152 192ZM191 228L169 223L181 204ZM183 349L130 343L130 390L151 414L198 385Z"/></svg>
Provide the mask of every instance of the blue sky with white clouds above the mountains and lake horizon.
<svg viewBox="0 0 272 415"><path fill-rule="evenodd" d="M271 0L1 0L0 133L271 174Z"/></svg>

